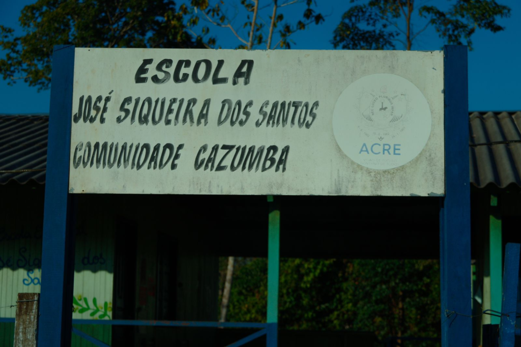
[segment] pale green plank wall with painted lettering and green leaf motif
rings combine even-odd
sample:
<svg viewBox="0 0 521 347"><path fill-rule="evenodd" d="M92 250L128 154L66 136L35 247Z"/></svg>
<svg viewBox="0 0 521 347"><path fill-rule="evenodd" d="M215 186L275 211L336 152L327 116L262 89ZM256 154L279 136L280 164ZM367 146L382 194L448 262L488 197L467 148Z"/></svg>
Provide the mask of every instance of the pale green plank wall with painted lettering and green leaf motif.
<svg viewBox="0 0 521 347"><path fill-rule="evenodd" d="M27 200L25 201L27 204ZM0 317L14 318L18 293L40 292L42 219L28 216L28 206L9 204L0 211ZM35 206L36 207L36 206ZM30 210L30 209L29 209ZM43 216L42 216L43 217ZM114 225L104 216L77 221L75 307L73 318L111 319L114 284ZM43 277L45 281L45 275ZM41 318L42 319L42 318ZM111 343L110 326L78 326ZM0 347L12 347L13 323L0 324ZM72 345L91 346L73 336Z"/></svg>

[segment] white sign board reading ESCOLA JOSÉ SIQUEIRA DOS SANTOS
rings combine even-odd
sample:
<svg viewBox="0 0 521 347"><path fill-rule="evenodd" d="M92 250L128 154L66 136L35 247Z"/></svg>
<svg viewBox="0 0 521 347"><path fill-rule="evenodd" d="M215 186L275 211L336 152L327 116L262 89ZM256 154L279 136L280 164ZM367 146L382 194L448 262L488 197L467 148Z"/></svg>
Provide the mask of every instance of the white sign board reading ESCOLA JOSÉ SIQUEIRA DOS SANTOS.
<svg viewBox="0 0 521 347"><path fill-rule="evenodd" d="M443 52L76 48L71 193L444 194Z"/></svg>

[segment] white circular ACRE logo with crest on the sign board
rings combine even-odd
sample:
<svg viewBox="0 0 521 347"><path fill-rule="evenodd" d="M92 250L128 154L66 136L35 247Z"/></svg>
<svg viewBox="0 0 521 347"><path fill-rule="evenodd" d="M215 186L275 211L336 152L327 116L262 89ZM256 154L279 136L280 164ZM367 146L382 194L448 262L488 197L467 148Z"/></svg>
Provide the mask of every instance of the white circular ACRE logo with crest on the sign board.
<svg viewBox="0 0 521 347"><path fill-rule="evenodd" d="M338 145L370 169L393 169L413 160L427 144L431 126L425 96L412 82L390 73L351 83L333 111Z"/></svg>

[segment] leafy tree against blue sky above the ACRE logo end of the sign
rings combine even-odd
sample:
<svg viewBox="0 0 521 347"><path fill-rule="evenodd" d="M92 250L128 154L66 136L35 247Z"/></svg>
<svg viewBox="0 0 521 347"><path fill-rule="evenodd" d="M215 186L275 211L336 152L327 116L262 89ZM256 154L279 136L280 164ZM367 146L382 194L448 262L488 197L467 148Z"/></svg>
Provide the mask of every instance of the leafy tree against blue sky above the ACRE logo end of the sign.
<svg viewBox="0 0 521 347"><path fill-rule="evenodd" d="M416 6L414 0L369 0L343 14L331 42L343 49L396 48L399 42L410 51L418 35L432 27L446 43L465 43L472 50L477 29L502 31L496 20L508 16L510 8L495 0L453 0L447 10ZM413 18L423 21L419 30Z"/></svg>

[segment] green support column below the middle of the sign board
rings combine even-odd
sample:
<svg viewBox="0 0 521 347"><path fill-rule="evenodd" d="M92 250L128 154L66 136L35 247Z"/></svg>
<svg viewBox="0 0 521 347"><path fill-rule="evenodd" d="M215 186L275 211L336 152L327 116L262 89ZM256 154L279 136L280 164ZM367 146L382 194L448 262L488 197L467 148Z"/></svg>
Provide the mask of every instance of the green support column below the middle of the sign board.
<svg viewBox="0 0 521 347"><path fill-rule="evenodd" d="M277 346L279 316L279 267L280 267L280 209L273 196L268 196L268 307L266 346Z"/></svg>

